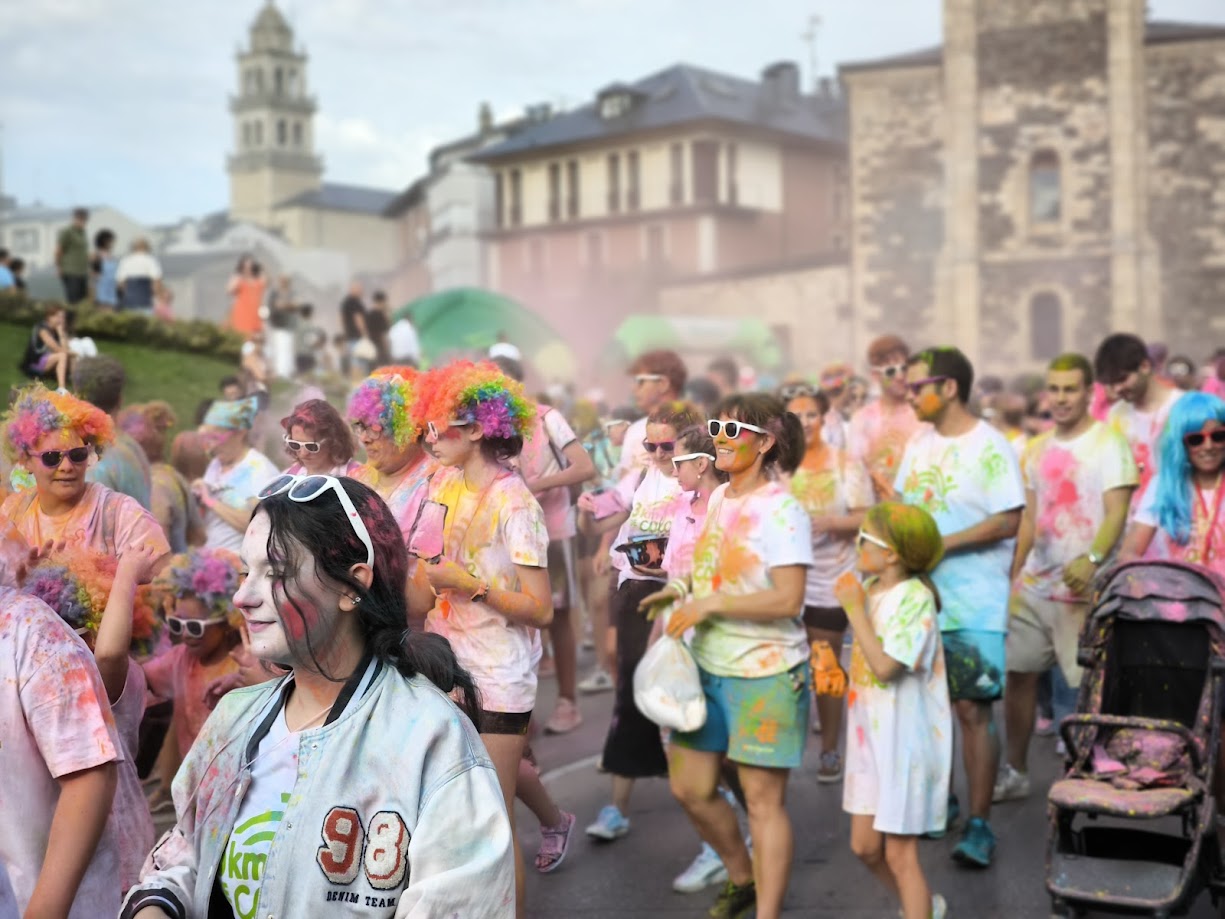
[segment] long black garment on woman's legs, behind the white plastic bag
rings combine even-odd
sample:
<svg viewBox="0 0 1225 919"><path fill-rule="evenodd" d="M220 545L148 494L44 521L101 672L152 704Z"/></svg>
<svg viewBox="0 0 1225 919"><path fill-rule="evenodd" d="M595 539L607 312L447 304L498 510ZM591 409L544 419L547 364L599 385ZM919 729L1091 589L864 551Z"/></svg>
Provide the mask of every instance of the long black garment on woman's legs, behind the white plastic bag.
<svg viewBox="0 0 1225 919"><path fill-rule="evenodd" d="M663 588L660 581L626 581L612 592L611 613L616 626L616 698L612 723L604 740L600 767L614 776L648 778L668 774L668 757L659 739L659 725L649 720L633 701L633 671L647 653L654 625L638 611L638 603Z"/></svg>

